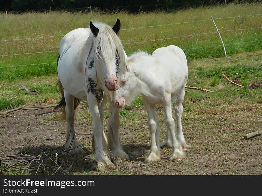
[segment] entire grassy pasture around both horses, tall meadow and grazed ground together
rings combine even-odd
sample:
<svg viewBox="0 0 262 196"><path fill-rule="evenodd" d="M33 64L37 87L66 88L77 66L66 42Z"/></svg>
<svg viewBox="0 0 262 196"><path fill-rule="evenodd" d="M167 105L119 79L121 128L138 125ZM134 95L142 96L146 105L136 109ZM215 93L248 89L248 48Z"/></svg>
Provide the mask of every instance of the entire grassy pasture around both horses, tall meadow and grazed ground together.
<svg viewBox="0 0 262 196"><path fill-rule="evenodd" d="M150 153L150 135L146 110L141 97L137 97L131 106L126 106L120 111L120 139L131 161L117 162L116 169L112 171L91 170L89 160L94 154L90 134L93 122L88 105L85 104L76 118L75 129L79 143L84 145L87 154L84 160L66 172L75 175L262 175L262 136L249 140L243 138L247 133L261 130L262 87L237 87L225 80L221 74L222 69L228 78L244 86L262 83L262 31L247 30L261 27L262 15L227 18L238 16L239 13L261 14L261 11L262 4L257 3L203 7L175 13L54 12L9 14L7 17L0 14L0 40L61 35L52 38L0 41L0 55L58 50L62 35L75 28L87 27L90 20L104 21L113 25L116 18L119 18L121 28L128 29L208 19L120 32L123 44L203 33L199 36L124 45L127 54L138 49L151 53L157 47L171 44L183 49L198 48L185 50L189 70L187 86L202 87L216 92L187 89L189 92L185 93L182 126L185 140L191 145L186 151L186 157L180 162L168 161L171 149L161 149L162 161L166 162L143 165L144 158ZM222 46L210 47L221 45L219 38L216 37L217 33L208 33L215 31L212 21L209 20L210 15L213 18L224 18L215 21L221 30L224 44L232 44L226 45L227 58L224 57ZM0 67L50 63L0 68L0 110L57 103L60 100L60 94L55 90L57 65L52 64L56 62L56 58L57 52L0 56ZM21 84L29 89L37 89L40 95L29 95L19 91ZM65 142L66 124L59 121L59 112L37 116L39 113L50 111L51 109L32 112L18 110L10 113L15 117L0 115L0 138L3 144L0 146L0 157L14 152L41 153L43 149L55 154L56 149ZM160 141L163 141L166 128L162 106L157 106L156 112L160 125ZM105 132L109 116L106 104ZM21 173L21 170L13 170L3 174Z"/></svg>

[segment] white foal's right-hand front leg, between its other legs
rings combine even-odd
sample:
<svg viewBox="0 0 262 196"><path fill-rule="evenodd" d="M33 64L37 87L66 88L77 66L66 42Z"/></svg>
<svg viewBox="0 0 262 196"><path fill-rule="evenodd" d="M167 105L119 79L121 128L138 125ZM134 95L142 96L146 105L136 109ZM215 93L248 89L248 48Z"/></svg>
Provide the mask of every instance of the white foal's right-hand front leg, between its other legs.
<svg viewBox="0 0 262 196"><path fill-rule="evenodd" d="M164 98L164 112L165 112L165 124L170 132L171 139L172 139L172 155L170 159L182 159L185 154L183 152L183 149L181 147L180 142L177 140L175 136L175 122L172 117L172 101L171 101L171 95L169 93L165 94Z"/></svg>

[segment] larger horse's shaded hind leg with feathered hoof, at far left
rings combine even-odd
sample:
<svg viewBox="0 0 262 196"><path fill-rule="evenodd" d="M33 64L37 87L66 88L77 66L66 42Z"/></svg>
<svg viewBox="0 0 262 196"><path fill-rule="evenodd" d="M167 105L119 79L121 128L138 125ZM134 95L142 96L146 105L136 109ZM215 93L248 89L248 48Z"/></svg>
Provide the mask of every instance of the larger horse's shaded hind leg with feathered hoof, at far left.
<svg viewBox="0 0 262 196"><path fill-rule="evenodd" d="M66 101L66 120L67 120L67 132L66 132L66 143L65 150L70 150L72 153L78 155L84 155L85 152L79 146L75 130L74 130L74 96L70 95L68 92L64 92L65 101Z"/></svg>

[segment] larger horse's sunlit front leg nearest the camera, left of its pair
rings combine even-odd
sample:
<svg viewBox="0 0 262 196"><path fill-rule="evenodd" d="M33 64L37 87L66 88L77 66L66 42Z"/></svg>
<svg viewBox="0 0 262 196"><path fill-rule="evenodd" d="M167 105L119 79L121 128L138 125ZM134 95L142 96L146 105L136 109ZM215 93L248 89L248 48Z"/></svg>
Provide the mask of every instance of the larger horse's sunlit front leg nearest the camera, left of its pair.
<svg viewBox="0 0 262 196"><path fill-rule="evenodd" d="M110 153L104 138L103 121L100 118L99 103L93 94L87 95L89 109L93 118L93 140L95 157L93 159L93 169L98 171L114 169L113 163L110 161Z"/></svg>

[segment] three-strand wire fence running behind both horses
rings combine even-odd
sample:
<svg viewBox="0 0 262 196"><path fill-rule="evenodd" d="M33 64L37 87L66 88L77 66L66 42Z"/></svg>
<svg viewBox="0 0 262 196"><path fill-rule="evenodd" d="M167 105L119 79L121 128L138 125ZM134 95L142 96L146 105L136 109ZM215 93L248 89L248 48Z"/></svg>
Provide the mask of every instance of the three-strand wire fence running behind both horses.
<svg viewBox="0 0 262 196"><path fill-rule="evenodd" d="M239 18L239 17L250 17L250 16L261 16L261 15L262 15L262 14L252 14L252 15L221 17L221 18L213 18L213 19L214 19L214 20L220 20L220 19ZM161 24L161 25L146 26L146 27L135 27L135 28L122 29L122 30L133 30L133 29L142 29L142 28L154 28L154 27L161 27L161 26L168 26L168 25L178 25L178 24L186 24L186 23L194 23L194 22L203 22L203 21L210 21L210 19L197 20L197 21L185 21L185 22L179 22L179 23ZM262 27L243 28L243 29L230 29L230 30L220 30L220 32L241 31L241 30L255 30L255 29L261 29L261 28L262 28ZM198 33L198 34L191 34L191 35L185 35L185 36L176 36L176 37L170 37L170 38L160 38L160 39L152 39L152 40L144 40L144 41L135 41L135 42L130 42L130 43L124 43L123 45L140 44L140 43L153 42L153 41L163 41L163 40L176 39L176 38L186 38L186 37L193 37L193 36L208 35L208 34L213 34L213 33L217 33L217 31L205 32L205 33ZM62 36L64 36L64 35L43 36L43 37L34 37L34 38L17 38L17 39L0 40L0 42L3 42L3 41L17 41L17 40L29 40L29 39L40 39L40 38L53 38L53 37L62 37ZM224 45L244 44L244 43L251 43L251 42L258 42L258 41L262 41L262 40L238 42L238 43L231 43L231 44L224 44ZM222 45L212 45L212 46L195 47L195 48L184 48L183 50L196 50L196 49L203 49L203 48L209 48L209 47L222 47ZM7 54L7 55L0 55L0 57L14 56L14 55L31 55L31 54L40 54L40 53L53 53L53 52L58 52L58 51L59 51L59 50L42 51L42 52L34 52L34 53ZM56 63L56 62L38 63L38 64L26 64L26 65L13 65L13 66L10 65L10 66L2 66L2 67L0 67L0 68L6 68L6 67L22 67L22 66L32 66L32 65L49 65L49 64L54 64L54 63Z"/></svg>

